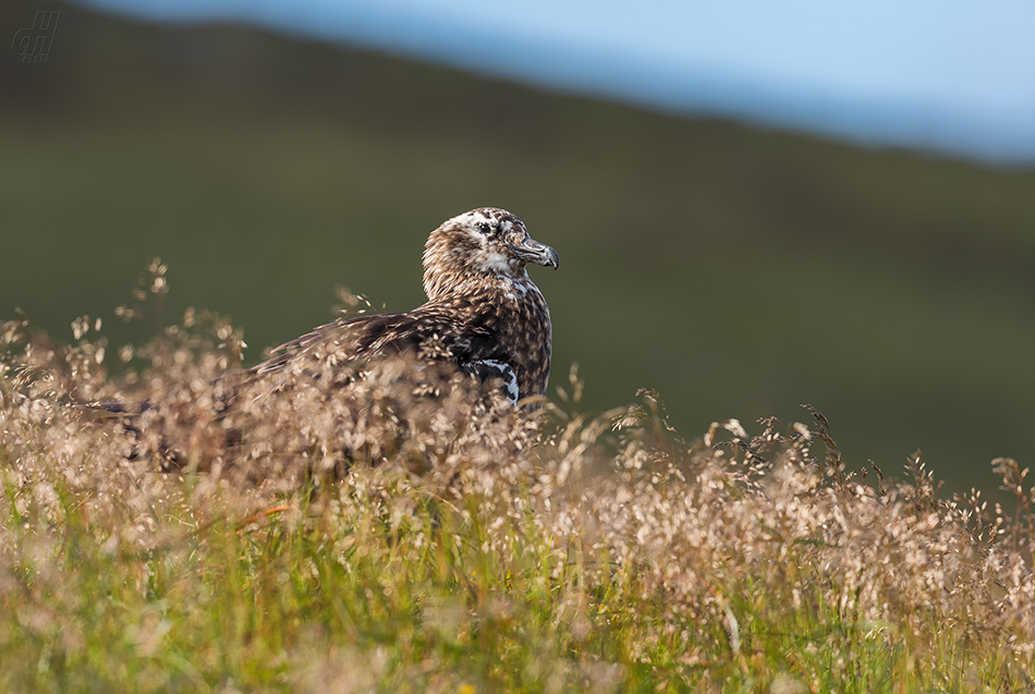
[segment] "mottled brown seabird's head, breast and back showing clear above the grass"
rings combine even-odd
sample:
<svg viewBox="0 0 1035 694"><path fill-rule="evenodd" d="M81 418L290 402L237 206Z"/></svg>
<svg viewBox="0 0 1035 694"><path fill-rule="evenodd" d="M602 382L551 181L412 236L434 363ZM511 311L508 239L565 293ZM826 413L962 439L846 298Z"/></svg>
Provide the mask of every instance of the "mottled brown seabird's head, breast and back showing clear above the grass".
<svg viewBox="0 0 1035 694"><path fill-rule="evenodd" d="M514 402L543 395L550 375L550 312L525 271L528 263L557 268L557 252L529 238L507 210L473 209L428 236L427 303L321 326L281 345L249 374L261 378L299 360L348 363L410 354L453 363L483 380L498 378Z"/></svg>

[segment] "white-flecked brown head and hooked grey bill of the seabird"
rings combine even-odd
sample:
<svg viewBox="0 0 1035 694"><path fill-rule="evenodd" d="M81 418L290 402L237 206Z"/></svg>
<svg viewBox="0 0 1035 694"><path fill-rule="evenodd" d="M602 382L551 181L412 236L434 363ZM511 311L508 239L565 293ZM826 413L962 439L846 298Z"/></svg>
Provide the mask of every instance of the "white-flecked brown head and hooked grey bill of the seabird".
<svg viewBox="0 0 1035 694"><path fill-rule="evenodd" d="M442 222L424 248L424 291L435 300L465 282L527 280L525 265L557 269L557 251L528 235L506 209L479 207Z"/></svg>

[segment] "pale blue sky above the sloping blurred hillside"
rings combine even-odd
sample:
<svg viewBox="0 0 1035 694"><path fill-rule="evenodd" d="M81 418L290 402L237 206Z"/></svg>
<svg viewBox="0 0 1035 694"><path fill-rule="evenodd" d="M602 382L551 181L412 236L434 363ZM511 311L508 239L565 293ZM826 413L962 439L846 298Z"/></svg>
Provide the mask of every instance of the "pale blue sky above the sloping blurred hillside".
<svg viewBox="0 0 1035 694"><path fill-rule="evenodd" d="M81 0L649 108L1035 165L1032 0Z"/></svg>

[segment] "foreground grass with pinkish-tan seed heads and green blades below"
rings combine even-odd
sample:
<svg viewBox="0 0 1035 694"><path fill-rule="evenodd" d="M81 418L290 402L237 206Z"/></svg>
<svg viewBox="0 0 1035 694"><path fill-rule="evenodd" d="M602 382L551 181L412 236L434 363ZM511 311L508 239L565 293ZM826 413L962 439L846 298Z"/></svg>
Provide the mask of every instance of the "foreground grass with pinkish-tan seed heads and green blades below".
<svg viewBox="0 0 1035 694"><path fill-rule="evenodd" d="M1035 686L1013 461L1006 513L939 498L918 455L865 484L818 413L687 443L653 392L590 417L573 375L532 414L395 362L230 398L217 316L118 378L99 321L73 328L0 331L0 690ZM161 404L130 430L69 406L108 399Z"/></svg>

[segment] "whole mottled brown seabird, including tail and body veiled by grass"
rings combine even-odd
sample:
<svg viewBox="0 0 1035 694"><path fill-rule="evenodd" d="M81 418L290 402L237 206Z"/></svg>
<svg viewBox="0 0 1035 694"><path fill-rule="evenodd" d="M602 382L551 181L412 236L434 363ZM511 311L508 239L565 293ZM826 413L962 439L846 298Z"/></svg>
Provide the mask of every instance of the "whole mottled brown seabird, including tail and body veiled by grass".
<svg viewBox="0 0 1035 694"><path fill-rule="evenodd" d="M263 414L266 401L287 402L289 411L306 413L313 412L309 407L315 401L327 411L324 419L333 423L334 436L350 441L342 448L352 453L357 446L395 447L397 435L427 425L436 401L421 398L414 405L407 395L404 402L392 401L387 411L379 409L383 403L370 402L376 390L370 382L385 376L386 363L404 369L401 375L399 368L388 369L394 378L389 388L393 393L406 390L398 388L402 382L413 387L410 395L422 387L431 392L419 394L434 395L438 386L460 375L470 377L482 392L502 395L504 406L535 411L549 382L552 326L546 299L526 270L529 264L556 270L559 256L551 246L534 240L515 215L479 207L446 220L425 243L424 304L402 313L341 317L281 344L256 366L217 377L208 398L210 416L202 417L222 431L209 437L215 442L210 456L240 448L248 427L253 439L275 440L285 426L294 426L280 418L282 407L275 406L272 415ZM276 392L283 395L279 401L270 398ZM333 392L342 394L329 398ZM141 435L145 426L135 418L143 422L146 413L151 425L158 425L150 449L165 461L163 470L176 470L191 455L182 450L190 446L178 446L174 439L198 439L195 434L176 434L198 426L197 417L181 414L181 405L194 398L196 393L179 393L167 395L166 402L159 398L133 405L108 401L85 406L119 415L134 435ZM440 402L446 406L448 399ZM400 407L409 412L399 412ZM361 434L370 430L368 411L380 413L373 435ZM474 411L464 410L468 415ZM253 415L251 424L243 422L244 413ZM264 421L263 434L256 434Z"/></svg>

